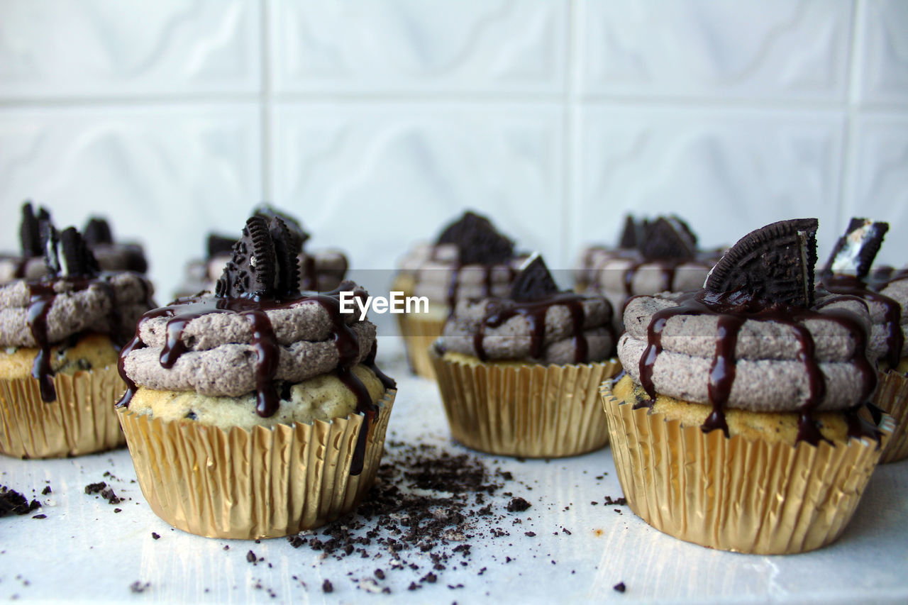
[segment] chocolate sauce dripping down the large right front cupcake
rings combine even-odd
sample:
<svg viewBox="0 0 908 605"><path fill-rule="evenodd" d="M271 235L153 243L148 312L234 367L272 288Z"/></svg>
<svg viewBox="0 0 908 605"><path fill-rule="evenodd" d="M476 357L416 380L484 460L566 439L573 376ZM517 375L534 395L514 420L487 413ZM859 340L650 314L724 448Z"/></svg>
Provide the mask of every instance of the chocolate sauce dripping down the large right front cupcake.
<svg viewBox="0 0 908 605"><path fill-rule="evenodd" d="M804 307L781 305L767 307L741 293L731 293L720 297L709 296L703 291L685 293L677 298L676 302L678 302L676 307L669 307L654 313L647 326L646 349L639 362L640 384L650 399L655 400L656 386L653 383L653 370L659 353L663 351L662 332L670 318L678 315L716 315L718 317L716 353L710 366L707 388L713 410L701 426L705 432L722 429L725 436L728 435L724 410L735 382L737 336L746 320L777 322L795 330L795 337L799 345L798 361L804 364L809 385L807 401L798 410L796 441L807 441L816 445L821 440L825 440L811 416L825 396L825 376L820 370L819 363L816 362L814 339L803 325L805 320L822 316L824 319L836 322L849 332L854 340L854 354L850 361L861 372L864 385L862 397L869 397L876 388L876 374L864 355L867 333L864 331L864 326L848 312L826 309L812 311Z"/></svg>

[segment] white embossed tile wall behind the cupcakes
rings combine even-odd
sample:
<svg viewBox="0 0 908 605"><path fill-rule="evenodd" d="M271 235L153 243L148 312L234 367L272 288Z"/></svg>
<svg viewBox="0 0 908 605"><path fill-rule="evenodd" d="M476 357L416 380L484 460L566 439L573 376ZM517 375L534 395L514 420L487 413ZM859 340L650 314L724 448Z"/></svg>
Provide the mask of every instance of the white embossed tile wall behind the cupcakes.
<svg viewBox="0 0 908 605"><path fill-rule="evenodd" d="M25 197L142 237L164 293L262 198L359 267L464 207L554 267L627 211L903 233L906 32L899 0L5 0L0 249Z"/></svg>

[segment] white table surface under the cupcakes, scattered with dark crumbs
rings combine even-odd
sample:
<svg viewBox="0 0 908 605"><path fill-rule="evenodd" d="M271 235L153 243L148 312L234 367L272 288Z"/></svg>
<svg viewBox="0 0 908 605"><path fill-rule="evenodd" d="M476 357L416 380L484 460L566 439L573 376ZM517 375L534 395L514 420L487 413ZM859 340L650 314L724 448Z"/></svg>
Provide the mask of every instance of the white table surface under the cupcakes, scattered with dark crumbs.
<svg viewBox="0 0 908 605"><path fill-rule="evenodd" d="M434 382L410 376L395 340L384 347L382 363L399 384L389 439L467 451L450 441ZM410 582L419 581L431 564L428 556L410 551L408 560L426 564L412 572L397 570L379 581L390 588L390 595L358 588L359 580L371 578L377 567L388 568L387 557L380 564L357 556L322 560L318 551L293 549L284 539L257 544L173 530L154 515L131 482L135 474L125 449L53 461L0 457L0 484L46 501L33 514L47 515L44 520L31 514L0 519L0 600L908 602L908 461L875 471L854 519L832 546L766 557L678 541L648 527L626 506L603 505L606 496L621 495L608 449L553 461L476 455L490 469L513 473L514 480L489 500L499 514L477 518L480 528L487 523L510 535L471 541L468 567L449 566L438 572L437 583L413 591L407 590ZM104 477L104 471L116 479ZM48 481L53 492L37 493ZM118 496L132 500L114 507L86 495L84 486L96 481L106 481ZM526 498L532 507L508 513L505 491ZM122 511L114 513L114 508ZM518 518L523 522L513 524ZM528 537L526 531L536 536ZM152 532L160 534L160 540L154 540ZM224 550L225 545L230 549ZM264 561L252 565L246 560L249 550ZM479 575L483 567L487 569ZM330 594L321 590L324 579L334 586ZM134 593L130 585L136 580L148 582L147 590ZM624 593L613 589L621 581L627 586ZM464 587L449 589L457 584Z"/></svg>

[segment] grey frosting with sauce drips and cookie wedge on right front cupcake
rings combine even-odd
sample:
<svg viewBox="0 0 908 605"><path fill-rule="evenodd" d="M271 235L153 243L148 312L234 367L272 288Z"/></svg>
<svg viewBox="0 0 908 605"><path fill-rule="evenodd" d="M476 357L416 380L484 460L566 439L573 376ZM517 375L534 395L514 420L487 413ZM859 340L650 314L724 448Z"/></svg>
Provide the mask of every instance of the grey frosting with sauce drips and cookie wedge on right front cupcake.
<svg viewBox="0 0 908 605"><path fill-rule="evenodd" d="M870 313L856 297L814 293L816 229L816 219L766 225L725 253L703 289L632 298L618 342L627 374L651 400L712 405L704 431L728 434L725 408L796 412L798 441L816 444L814 412L854 416L876 387Z"/></svg>

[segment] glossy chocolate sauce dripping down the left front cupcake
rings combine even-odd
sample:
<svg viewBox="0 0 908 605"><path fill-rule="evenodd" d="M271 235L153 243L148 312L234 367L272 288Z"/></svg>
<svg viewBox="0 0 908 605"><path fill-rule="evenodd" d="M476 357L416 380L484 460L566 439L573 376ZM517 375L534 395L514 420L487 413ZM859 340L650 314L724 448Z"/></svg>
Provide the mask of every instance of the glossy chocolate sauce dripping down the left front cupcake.
<svg viewBox="0 0 908 605"><path fill-rule="evenodd" d="M350 284L348 283L347 285L349 286ZM344 285L341 285L341 288L343 287ZM360 357L360 342L357 340L356 332L353 332L350 326L343 321L340 292L341 290L339 289L331 293L307 293L286 301L258 300L252 297L187 298L146 312L136 326L133 340L123 347L123 351L120 353L117 367L121 377L123 377L123 381L126 382L127 389L120 402L117 402L117 406L128 407L136 392L136 384L126 374L123 364L130 352L146 346L142 342L141 337L143 322L154 317L171 318L166 324L167 340L161 352L161 365L165 368L172 368L183 352L186 352L186 345L183 342L183 331L189 322L208 313L232 312L242 315L252 323L252 347L257 354L255 365L255 411L262 418L273 416L280 407L280 397L274 388L274 377L280 360L281 345L277 340L266 311L287 309L307 302L315 303L328 312L331 320L331 332L339 357L337 376L350 389L350 392L356 396L356 412L362 413L364 416L360 435L357 437L350 471L352 474L359 474L362 471L363 461L365 460L366 436L369 432L370 422L378 413L378 407L372 403L369 391L365 385L350 371ZM360 297L365 295L361 290L354 292L355 295ZM394 388L394 381L375 366L374 344L370 355L364 362L375 372L385 388Z"/></svg>

